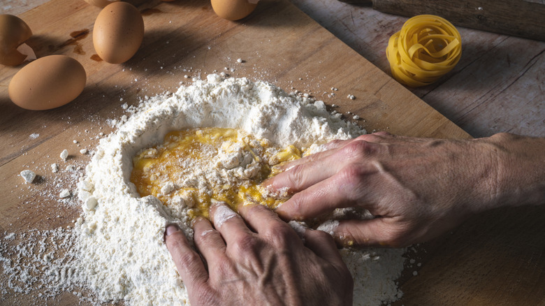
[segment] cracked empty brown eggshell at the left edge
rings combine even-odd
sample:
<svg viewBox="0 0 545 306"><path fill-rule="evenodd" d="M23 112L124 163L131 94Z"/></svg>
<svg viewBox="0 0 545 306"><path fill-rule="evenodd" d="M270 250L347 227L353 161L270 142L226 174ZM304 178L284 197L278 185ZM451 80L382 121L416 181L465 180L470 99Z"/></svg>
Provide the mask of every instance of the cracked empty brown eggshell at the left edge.
<svg viewBox="0 0 545 306"><path fill-rule="evenodd" d="M31 57L34 51L24 41L32 36L29 26L14 15L0 15L0 64L17 66Z"/></svg>

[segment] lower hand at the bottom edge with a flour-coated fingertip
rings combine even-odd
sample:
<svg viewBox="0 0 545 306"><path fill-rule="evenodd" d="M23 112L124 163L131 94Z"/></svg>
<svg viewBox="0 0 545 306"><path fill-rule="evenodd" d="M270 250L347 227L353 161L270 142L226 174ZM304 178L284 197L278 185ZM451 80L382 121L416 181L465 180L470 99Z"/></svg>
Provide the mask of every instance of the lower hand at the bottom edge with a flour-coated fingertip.
<svg viewBox="0 0 545 306"><path fill-rule="evenodd" d="M262 205L241 205L244 219L223 204L210 210L214 226L194 222L206 265L177 226L166 228L191 305L352 305L353 281L330 235L309 229L303 244Z"/></svg>

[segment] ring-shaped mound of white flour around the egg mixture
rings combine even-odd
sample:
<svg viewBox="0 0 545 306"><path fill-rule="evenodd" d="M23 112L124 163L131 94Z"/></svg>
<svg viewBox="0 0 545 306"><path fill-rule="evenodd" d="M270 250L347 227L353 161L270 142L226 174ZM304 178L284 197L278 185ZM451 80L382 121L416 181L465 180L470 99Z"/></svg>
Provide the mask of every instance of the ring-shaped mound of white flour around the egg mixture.
<svg viewBox="0 0 545 306"><path fill-rule="evenodd" d="M84 216L76 222L78 282L101 301L130 305L187 304L187 292L163 243L176 222L192 238L188 218L175 219L152 196L140 198L129 181L138 150L162 143L173 130L196 127L243 129L279 146L310 147L362 131L330 115L321 101L286 94L265 82L208 75L171 96L145 101L119 129L101 140L78 184ZM177 214L179 217L179 214ZM402 249L342 250L355 277L354 305L381 305L400 294Z"/></svg>

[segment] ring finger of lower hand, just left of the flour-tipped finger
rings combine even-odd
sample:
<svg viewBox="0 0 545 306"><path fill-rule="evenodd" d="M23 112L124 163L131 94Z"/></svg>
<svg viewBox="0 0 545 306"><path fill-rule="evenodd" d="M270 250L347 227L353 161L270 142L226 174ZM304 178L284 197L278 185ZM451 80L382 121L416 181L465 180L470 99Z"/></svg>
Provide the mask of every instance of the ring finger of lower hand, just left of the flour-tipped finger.
<svg viewBox="0 0 545 306"><path fill-rule="evenodd" d="M213 265L225 254L225 242L221 234L212 228L210 221L199 217L193 224L194 240L198 252L201 252L208 265Z"/></svg>

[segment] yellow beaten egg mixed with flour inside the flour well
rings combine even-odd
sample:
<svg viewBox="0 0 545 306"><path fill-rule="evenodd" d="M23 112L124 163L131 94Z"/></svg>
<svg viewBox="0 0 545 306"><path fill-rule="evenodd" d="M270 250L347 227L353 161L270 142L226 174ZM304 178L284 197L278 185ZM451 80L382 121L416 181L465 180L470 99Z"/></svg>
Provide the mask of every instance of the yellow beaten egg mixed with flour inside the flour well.
<svg viewBox="0 0 545 306"><path fill-rule="evenodd" d="M163 144L134 156L131 182L140 196L187 207L191 219L208 218L212 201L223 201L235 211L245 202L275 208L285 198L268 196L261 182L302 154L293 145L277 147L237 129L173 131Z"/></svg>

